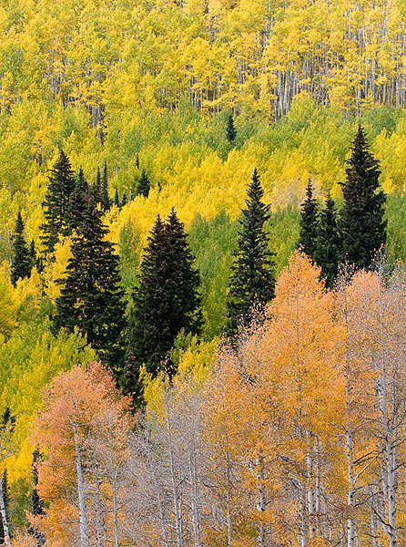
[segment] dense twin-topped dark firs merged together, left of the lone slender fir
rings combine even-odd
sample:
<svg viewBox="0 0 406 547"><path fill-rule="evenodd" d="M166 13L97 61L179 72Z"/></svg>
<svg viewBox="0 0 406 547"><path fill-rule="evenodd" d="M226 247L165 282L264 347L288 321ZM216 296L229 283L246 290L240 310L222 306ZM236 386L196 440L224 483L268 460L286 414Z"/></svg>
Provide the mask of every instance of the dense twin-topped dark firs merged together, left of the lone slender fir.
<svg viewBox="0 0 406 547"><path fill-rule="evenodd" d="M135 382L143 363L147 372L157 373L182 328L192 334L199 331L199 274L193 262L176 213L172 211L167 222L158 215L147 239L128 327Z"/></svg>

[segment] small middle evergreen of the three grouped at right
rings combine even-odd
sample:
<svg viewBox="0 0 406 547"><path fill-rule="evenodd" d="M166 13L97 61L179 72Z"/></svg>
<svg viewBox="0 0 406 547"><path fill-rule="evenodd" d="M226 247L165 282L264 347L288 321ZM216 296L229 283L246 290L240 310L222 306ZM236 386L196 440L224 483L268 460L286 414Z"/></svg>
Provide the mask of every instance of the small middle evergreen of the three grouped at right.
<svg viewBox="0 0 406 547"><path fill-rule="evenodd" d="M334 201L327 194L324 209L320 212L320 222L315 262L321 268L321 275L326 280L326 285L331 287L339 271L341 257L341 239L337 226L337 212Z"/></svg>

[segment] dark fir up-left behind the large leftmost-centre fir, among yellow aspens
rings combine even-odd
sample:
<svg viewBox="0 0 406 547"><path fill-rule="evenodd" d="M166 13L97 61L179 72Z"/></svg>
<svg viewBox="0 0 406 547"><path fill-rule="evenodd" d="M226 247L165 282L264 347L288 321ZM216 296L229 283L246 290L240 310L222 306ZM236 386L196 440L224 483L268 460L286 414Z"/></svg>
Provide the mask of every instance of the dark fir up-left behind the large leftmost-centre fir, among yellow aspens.
<svg viewBox="0 0 406 547"><path fill-rule="evenodd" d="M46 253L53 253L59 236L70 232L67 209L74 188L75 173L66 153L60 150L59 158L49 175L46 199L43 203L46 222L41 226L41 240Z"/></svg>

